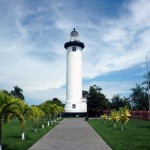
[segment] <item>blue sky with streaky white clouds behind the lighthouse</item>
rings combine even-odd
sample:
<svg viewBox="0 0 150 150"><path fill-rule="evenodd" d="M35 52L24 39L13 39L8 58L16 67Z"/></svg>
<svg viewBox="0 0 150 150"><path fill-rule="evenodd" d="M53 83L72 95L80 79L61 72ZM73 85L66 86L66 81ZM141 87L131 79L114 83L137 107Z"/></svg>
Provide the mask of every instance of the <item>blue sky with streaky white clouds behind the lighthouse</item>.
<svg viewBox="0 0 150 150"><path fill-rule="evenodd" d="M128 97L150 61L149 0L0 0L0 89L25 101L66 100L66 50L76 28L83 50L83 90ZM148 68L149 69L149 68Z"/></svg>

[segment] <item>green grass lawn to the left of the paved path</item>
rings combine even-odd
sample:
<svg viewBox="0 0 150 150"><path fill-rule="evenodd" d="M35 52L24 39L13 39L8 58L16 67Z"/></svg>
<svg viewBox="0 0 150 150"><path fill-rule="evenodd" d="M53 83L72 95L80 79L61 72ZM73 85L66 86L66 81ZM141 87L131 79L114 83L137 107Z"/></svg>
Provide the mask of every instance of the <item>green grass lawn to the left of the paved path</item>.
<svg viewBox="0 0 150 150"><path fill-rule="evenodd" d="M19 121L13 120L10 123L2 125L2 149L3 150L27 150L31 145L33 145L38 139L40 139L44 134L50 131L56 126L47 126L45 122L45 128L42 129L41 125L37 128L37 132L34 132L34 124L31 121L26 122L25 127L25 140L21 140L21 128Z"/></svg>

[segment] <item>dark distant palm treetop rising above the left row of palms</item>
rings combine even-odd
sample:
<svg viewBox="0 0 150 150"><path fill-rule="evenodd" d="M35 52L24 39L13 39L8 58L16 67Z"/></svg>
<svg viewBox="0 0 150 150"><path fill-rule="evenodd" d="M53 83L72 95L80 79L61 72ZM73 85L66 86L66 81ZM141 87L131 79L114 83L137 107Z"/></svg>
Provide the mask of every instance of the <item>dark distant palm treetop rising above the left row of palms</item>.
<svg viewBox="0 0 150 150"><path fill-rule="evenodd" d="M23 90L17 85L14 86L14 90L11 91L11 95L13 95L16 98L20 98L21 100L24 100Z"/></svg>

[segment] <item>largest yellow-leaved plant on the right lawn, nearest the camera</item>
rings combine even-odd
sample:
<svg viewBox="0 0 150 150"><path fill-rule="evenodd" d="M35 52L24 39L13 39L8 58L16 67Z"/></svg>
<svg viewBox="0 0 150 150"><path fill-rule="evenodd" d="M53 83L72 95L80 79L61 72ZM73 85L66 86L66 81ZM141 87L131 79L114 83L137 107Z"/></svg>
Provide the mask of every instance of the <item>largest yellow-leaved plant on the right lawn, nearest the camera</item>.
<svg viewBox="0 0 150 150"><path fill-rule="evenodd" d="M131 116L129 109L127 107L120 107L119 108L119 116L120 120L122 122L121 130L124 129L124 124L126 124L129 121L129 117Z"/></svg>

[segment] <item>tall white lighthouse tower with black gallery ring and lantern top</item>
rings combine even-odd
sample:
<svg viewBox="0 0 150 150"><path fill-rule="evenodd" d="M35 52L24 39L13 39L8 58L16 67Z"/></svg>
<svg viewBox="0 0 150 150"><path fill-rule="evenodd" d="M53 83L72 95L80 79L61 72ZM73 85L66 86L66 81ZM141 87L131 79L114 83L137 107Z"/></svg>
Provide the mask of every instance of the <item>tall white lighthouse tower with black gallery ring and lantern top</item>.
<svg viewBox="0 0 150 150"><path fill-rule="evenodd" d="M87 100L82 98L82 50L84 43L79 41L79 33L74 29L70 41L64 44L67 50L66 103L65 112L85 115Z"/></svg>

